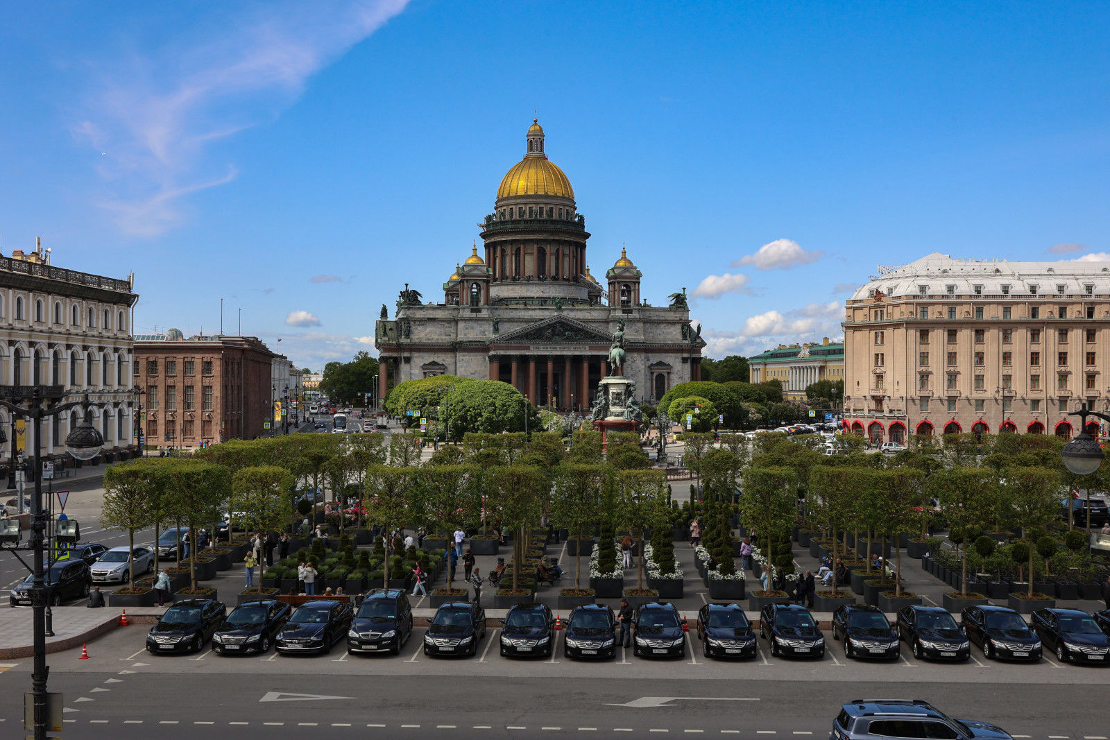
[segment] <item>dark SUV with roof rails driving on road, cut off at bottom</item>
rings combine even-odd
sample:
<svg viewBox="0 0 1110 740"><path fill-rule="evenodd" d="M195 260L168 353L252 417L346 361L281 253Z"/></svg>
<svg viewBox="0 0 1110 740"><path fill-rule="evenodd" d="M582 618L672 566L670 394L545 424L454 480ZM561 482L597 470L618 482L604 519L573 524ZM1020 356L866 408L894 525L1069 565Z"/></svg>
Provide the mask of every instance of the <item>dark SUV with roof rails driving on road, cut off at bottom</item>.
<svg viewBox="0 0 1110 740"><path fill-rule="evenodd" d="M1010 740L997 724L956 720L927 701L856 699L841 704L829 740L872 738L942 738L945 740Z"/></svg>

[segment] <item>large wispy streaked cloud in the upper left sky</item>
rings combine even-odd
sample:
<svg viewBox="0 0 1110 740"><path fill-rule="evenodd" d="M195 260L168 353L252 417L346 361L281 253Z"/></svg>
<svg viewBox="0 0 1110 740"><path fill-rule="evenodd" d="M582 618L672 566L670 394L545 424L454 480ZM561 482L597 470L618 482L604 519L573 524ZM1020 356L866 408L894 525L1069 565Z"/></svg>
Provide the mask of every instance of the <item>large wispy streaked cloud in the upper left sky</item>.
<svg viewBox="0 0 1110 740"><path fill-rule="evenodd" d="M87 141L122 231L164 233L181 200L235 178L205 162L212 142L273 120L327 67L404 10L408 0L285 0L231 4L185 27L152 29L119 58L92 60L92 82L71 130ZM144 41L154 51L135 53ZM224 174L215 174L222 172Z"/></svg>

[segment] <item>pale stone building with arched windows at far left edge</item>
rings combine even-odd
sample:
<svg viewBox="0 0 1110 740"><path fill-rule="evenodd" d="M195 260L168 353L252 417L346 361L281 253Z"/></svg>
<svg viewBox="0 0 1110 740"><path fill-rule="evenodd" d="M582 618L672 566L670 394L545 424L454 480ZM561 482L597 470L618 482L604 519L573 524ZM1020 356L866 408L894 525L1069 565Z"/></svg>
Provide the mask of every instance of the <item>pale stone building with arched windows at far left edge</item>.
<svg viewBox="0 0 1110 740"><path fill-rule="evenodd" d="M57 267L41 244L33 252L0 256L0 384L61 385L64 401L88 394L98 404L90 409L91 420L104 435L108 460L135 450L131 312L138 300L131 277ZM81 417L73 409L43 422L44 457L73 464L64 443ZM20 452L33 454L34 440L24 422L3 409L0 426L8 436L2 455L10 472Z"/></svg>

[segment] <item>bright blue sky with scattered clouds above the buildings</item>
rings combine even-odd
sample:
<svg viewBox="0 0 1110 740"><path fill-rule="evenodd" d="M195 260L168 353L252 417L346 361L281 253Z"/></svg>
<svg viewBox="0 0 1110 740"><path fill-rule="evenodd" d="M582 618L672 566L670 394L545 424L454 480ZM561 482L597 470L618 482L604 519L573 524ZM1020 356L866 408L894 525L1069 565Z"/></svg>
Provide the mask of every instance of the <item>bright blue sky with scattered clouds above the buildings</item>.
<svg viewBox="0 0 1110 740"><path fill-rule="evenodd" d="M440 294L538 110L592 272L627 243L754 354L839 336L877 264L1110 252L1108 38L1104 2L7 3L0 251L319 369Z"/></svg>

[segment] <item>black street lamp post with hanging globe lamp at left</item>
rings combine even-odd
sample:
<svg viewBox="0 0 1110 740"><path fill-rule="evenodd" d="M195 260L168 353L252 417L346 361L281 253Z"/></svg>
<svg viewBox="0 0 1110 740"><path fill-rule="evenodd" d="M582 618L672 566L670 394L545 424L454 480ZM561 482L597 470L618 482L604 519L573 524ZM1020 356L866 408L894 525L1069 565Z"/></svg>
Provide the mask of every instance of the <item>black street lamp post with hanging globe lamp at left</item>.
<svg viewBox="0 0 1110 740"><path fill-rule="evenodd" d="M77 427L70 430L65 437L65 452L77 459L92 459L104 445L104 438L94 426L88 420L88 408L93 404L89 403L88 396L83 401L71 401L64 404L58 403L65 397L65 387L61 385L48 386L23 386L7 385L0 386L0 406L11 412L12 417L20 416L31 422L31 432L34 435L34 498L31 499L31 541L27 547L19 547L18 544L6 550L29 550L32 553L31 570L31 609L33 611L33 636L34 636L34 663L31 672L31 701L33 704L33 731L36 740L47 739L47 723L49 710L49 695L47 692L47 592L43 572L43 559L47 554L47 509L42 506L42 449L39 444L39 434L42 430L42 419L58 416L75 406L83 406L85 414ZM4 436L0 430L0 436ZM75 525L75 523L74 523ZM17 529L16 541L19 535ZM18 555L16 556L19 557ZM23 562L22 558L19 558ZM27 567L27 564L23 562ZM60 728L59 728L60 729Z"/></svg>

